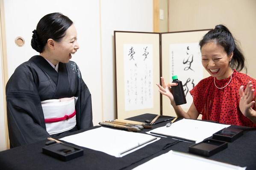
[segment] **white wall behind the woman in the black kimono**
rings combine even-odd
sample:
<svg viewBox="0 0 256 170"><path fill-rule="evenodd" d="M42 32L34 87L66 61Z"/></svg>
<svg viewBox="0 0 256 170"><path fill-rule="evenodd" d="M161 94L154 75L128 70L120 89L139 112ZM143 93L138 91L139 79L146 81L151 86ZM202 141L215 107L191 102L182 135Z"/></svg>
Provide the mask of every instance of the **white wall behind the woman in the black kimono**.
<svg viewBox="0 0 256 170"><path fill-rule="evenodd" d="M113 32L152 32L153 0L3 0L3 4L8 77L17 66L38 54L30 41L40 18L51 12L61 12L70 17L77 28L80 49L72 60L78 64L90 89L94 125L115 118ZM14 43L18 36L25 39L23 47ZM0 98L3 98L1 93ZM1 104L0 100L0 107ZM4 116L0 115L2 120ZM0 129L0 135L3 132Z"/></svg>

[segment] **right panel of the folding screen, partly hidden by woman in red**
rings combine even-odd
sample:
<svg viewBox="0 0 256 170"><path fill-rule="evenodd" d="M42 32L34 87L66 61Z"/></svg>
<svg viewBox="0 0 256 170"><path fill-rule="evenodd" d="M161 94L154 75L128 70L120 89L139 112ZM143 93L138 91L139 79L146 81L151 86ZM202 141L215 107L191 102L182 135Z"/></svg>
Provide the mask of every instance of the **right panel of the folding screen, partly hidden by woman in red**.
<svg viewBox="0 0 256 170"><path fill-rule="evenodd" d="M199 41L209 30L211 29L161 34L162 77L166 83L172 81L173 75L177 75L182 81L187 100L187 104L182 105L184 111L187 111L193 102L189 91L208 75L201 63ZM162 114L176 116L166 96L162 96Z"/></svg>

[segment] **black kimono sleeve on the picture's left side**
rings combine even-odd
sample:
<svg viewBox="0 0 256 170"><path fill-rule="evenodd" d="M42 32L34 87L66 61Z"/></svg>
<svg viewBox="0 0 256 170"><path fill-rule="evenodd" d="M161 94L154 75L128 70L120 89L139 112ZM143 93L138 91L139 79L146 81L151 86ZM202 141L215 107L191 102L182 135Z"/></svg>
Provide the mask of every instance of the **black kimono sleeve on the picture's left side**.
<svg viewBox="0 0 256 170"><path fill-rule="evenodd" d="M6 85L7 121L11 147L50 137L33 74L19 66Z"/></svg>

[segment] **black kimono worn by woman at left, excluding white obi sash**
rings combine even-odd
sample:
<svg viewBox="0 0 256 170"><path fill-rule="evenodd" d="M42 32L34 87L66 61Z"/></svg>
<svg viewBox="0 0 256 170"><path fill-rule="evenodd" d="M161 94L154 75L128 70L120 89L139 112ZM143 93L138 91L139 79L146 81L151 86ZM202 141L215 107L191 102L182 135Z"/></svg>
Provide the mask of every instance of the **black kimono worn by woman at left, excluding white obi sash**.
<svg viewBox="0 0 256 170"><path fill-rule="evenodd" d="M77 64L59 62L59 70L35 55L15 69L6 85L7 120L11 147L44 140L46 131L41 101L78 97L76 126L64 133L93 126L91 94Z"/></svg>

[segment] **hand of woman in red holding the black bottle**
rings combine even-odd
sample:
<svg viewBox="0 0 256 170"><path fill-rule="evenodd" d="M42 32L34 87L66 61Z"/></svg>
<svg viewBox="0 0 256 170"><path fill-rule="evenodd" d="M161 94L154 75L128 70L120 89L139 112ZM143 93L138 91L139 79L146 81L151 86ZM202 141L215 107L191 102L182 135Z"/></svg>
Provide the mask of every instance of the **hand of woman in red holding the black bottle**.
<svg viewBox="0 0 256 170"><path fill-rule="evenodd" d="M156 84L159 87L158 91L162 95L166 95L170 99L171 104L175 104L174 96L171 93L171 86L177 86L178 84L177 83L169 83L166 85L163 77L161 77L161 83L162 83L162 86L160 84Z"/></svg>

